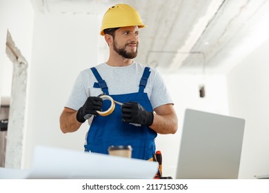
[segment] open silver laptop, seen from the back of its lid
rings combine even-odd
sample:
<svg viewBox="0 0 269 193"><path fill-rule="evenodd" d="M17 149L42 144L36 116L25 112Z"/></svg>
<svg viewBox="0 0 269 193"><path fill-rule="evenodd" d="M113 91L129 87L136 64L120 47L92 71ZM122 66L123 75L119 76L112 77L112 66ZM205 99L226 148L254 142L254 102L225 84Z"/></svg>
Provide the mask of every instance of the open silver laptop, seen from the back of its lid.
<svg viewBox="0 0 269 193"><path fill-rule="evenodd" d="M238 179L245 120L187 109L176 179Z"/></svg>

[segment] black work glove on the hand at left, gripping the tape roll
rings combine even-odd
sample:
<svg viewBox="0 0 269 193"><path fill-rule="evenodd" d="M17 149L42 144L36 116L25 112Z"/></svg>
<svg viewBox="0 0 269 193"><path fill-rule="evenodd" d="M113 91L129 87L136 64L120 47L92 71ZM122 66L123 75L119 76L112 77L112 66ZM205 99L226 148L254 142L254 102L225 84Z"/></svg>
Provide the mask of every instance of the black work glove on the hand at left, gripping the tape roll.
<svg viewBox="0 0 269 193"><path fill-rule="evenodd" d="M84 105L77 111L77 121L84 123L90 115L98 115L97 110L101 111L103 100L99 96L89 96Z"/></svg>

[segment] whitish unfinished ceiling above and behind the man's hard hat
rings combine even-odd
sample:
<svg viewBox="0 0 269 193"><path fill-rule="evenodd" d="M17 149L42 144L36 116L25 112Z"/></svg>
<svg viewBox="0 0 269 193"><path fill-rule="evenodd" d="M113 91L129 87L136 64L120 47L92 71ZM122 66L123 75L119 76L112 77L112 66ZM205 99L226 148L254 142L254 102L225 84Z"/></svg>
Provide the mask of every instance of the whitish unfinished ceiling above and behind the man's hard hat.
<svg viewBox="0 0 269 193"><path fill-rule="evenodd" d="M46 14L101 16L119 2L130 4L148 26L136 60L167 72L226 73L269 38L267 0L30 1Z"/></svg>

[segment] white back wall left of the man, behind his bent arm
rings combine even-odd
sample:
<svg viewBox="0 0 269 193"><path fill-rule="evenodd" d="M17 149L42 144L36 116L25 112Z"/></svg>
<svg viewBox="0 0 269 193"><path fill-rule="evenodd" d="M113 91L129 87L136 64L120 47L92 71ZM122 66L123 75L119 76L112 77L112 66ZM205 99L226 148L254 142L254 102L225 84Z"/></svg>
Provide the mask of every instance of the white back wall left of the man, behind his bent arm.
<svg viewBox="0 0 269 193"><path fill-rule="evenodd" d="M88 126L63 134L59 116L79 72L97 65L97 20L90 14L35 16L24 167L30 167L35 145L83 151Z"/></svg>

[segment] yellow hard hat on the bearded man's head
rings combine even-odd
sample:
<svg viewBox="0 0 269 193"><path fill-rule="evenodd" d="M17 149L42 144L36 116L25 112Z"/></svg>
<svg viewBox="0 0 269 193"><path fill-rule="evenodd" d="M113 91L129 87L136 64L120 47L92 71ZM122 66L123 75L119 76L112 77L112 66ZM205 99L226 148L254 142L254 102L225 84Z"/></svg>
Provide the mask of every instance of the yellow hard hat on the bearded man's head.
<svg viewBox="0 0 269 193"><path fill-rule="evenodd" d="M109 8L103 15L100 34L105 35L103 30L108 28L121 28L126 26L146 27L142 22L139 12L127 4L117 4Z"/></svg>

